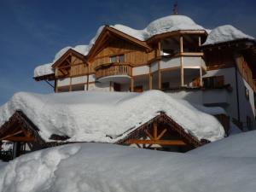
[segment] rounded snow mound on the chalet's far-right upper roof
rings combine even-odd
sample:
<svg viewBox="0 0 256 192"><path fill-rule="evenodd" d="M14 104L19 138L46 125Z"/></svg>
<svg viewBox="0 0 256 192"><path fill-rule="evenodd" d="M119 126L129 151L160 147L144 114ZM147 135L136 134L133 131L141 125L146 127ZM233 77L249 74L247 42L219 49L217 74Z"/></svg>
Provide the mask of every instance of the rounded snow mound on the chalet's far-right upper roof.
<svg viewBox="0 0 256 192"><path fill-rule="evenodd" d="M207 41L203 45L208 44L219 44L229 41L235 41L239 39L254 39L251 36L241 32L236 29L234 26L226 25L226 26L218 26L213 29L212 32L207 37Z"/></svg>

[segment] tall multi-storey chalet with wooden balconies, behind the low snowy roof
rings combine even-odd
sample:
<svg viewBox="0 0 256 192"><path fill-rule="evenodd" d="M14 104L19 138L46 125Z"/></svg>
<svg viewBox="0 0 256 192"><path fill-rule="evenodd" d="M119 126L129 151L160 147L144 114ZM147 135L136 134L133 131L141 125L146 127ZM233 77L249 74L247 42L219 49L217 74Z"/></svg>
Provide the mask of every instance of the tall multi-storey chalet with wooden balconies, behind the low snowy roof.
<svg viewBox="0 0 256 192"><path fill-rule="evenodd" d="M243 130L255 125L256 43L234 26L207 30L183 15L154 20L143 30L102 26L89 45L61 49L37 67L36 80L55 92L164 90L222 107Z"/></svg>

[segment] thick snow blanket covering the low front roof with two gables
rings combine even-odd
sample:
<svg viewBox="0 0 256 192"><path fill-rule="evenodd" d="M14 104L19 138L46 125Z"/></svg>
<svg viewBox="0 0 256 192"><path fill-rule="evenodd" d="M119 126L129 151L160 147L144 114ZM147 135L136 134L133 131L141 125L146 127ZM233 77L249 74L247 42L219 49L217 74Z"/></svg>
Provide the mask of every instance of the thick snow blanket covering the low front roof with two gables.
<svg viewBox="0 0 256 192"><path fill-rule="evenodd" d="M143 94L79 91L40 95L21 92L0 108L0 125L16 110L21 110L38 126L45 141L56 134L71 137L70 142L115 143L160 111L166 112L199 140L215 141L224 137L222 125L212 115L188 107L159 90Z"/></svg>

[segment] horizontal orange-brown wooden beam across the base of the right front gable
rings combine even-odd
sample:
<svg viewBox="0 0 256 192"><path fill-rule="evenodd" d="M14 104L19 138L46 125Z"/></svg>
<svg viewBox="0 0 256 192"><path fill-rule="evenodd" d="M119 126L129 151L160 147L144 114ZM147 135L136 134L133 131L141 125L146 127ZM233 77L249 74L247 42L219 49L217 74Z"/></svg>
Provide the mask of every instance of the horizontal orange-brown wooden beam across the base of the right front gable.
<svg viewBox="0 0 256 192"><path fill-rule="evenodd" d="M125 144L158 144L158 145L169 145L169 146L185 146L187 145L181 140L139 140L139 139L129 139Z"/></svg>

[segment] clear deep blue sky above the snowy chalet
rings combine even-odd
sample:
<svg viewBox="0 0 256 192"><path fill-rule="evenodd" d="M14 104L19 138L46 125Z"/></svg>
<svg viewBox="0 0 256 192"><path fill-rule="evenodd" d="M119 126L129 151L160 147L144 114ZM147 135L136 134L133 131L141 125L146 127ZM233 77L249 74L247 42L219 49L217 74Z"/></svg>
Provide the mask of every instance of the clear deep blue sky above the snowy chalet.
<svg viewBox="0 0 256 192"><path fill-rule="evenodd" d="M34 67L67 45L88 44L99 26L143 29L172 14L173 0L0 0L0 105L18 91L49 93ZM206 28L231 24L256 37L255 0L179 0L178 14Z"/></svg>

